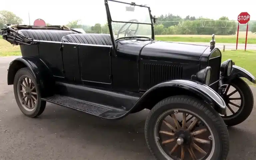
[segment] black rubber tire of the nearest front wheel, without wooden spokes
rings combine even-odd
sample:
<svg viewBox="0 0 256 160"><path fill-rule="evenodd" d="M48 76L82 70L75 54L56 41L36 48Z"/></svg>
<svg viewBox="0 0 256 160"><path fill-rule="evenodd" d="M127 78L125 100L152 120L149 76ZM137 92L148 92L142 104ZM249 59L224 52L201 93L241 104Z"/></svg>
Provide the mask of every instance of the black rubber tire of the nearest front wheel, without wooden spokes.
<svg viewBox="0 0 256 160"><path fill-rule="evenodd" d="M208 124L214 137L214 151L211 157L208 157L211 160L225 160L227 158L229 152L229 134L221 116L212 107L207 106L200 100L186 95L179 95L168 97L158 102L147 117L145 123L145 138L148 148L156 159L172 160L171 157L166 157L167 154L163 154L163 152L160 151L154 137L154 131L157 119L159 119L160 115L173 109L189 110L199 115Z"/></svg>

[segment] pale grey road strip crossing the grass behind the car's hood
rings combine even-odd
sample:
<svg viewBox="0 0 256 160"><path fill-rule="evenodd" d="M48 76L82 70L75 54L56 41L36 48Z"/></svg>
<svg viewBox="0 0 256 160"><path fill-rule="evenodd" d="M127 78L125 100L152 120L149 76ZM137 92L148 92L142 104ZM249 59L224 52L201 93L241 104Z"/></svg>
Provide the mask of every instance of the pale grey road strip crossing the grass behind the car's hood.
<svg viewBox="0 0 256 160"><path fill-rule="evenodd" d="M207 45L210 46L210 42L178 42L178 43L188 43L188 44L199 44L199 45ZM235 43L218 43L216 42L215 46L218 47L221 51L223 50L223 45L225 45L225 50L236 50ZM238 44L237 49L244 50L245 44ZM256 44L247 44L247 50L256 50Z"/></svg>

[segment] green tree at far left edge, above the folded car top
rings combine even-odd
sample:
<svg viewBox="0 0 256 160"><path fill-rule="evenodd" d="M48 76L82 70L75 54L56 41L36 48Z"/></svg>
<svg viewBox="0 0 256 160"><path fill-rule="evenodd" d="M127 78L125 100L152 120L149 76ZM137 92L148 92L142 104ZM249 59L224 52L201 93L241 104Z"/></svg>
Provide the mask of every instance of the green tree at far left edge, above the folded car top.
<svg viewBox="0 0 256 160"><path fill-rule="evenodd" d="M21 24L22 22L23 20L14 13L6 10L0 11L0 28L3 28L4 24Z"/></svg>

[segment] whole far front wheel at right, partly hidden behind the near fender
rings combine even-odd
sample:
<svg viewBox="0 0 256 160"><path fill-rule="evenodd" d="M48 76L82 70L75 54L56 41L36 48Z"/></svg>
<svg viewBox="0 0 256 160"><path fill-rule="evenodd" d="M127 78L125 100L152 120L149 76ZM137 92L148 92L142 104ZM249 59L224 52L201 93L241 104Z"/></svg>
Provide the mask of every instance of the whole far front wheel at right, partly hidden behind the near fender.
<svg viewBox="0 0 256 160"><path fill-rule="evenodd" d="M221 86L227 112L221 115L227 126L235 126L245 121L253 109L253 94L248 84L241 78Z"/></svg>

